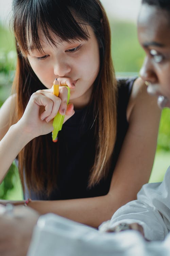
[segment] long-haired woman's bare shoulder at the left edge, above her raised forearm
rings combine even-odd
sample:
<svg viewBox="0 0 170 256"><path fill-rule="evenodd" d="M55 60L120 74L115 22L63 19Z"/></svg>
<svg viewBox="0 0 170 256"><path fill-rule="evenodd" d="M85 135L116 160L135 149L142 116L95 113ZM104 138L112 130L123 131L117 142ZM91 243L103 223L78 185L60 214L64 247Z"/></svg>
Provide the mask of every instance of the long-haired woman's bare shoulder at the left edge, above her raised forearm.
<svg viewBox="0 0 170 256"><path fill-rule="evenodd" d="M10 128L10 121L16 110L16 94L11 95L6 99L0 108L0 140Z"/></svg>

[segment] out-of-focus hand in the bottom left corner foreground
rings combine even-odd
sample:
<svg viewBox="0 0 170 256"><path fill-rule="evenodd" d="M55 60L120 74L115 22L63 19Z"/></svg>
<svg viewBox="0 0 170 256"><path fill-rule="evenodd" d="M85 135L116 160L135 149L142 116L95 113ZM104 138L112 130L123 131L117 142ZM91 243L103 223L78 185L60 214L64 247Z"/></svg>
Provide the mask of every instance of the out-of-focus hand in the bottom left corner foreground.
<svg viewBox="0 0 170 256"><path fill-rule="evenodd" d="M16 206L11 214L0 205L0 255L26 256L38 213L29 207Z"/></svg>

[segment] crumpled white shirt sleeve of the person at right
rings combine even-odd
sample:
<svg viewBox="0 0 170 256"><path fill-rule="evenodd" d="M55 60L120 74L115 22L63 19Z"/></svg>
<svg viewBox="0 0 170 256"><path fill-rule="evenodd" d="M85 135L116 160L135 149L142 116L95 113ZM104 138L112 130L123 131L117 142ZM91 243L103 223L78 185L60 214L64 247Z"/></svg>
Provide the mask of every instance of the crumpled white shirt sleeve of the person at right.
<svg viewBox="0 0 170 256"><path fill-rule="evenodd" d="M118 223L138 223L150 241L164 240L170 231L170 167L163 182L143 185L137 200L118 209L111 221L102 224L114 227Z"/></svg>

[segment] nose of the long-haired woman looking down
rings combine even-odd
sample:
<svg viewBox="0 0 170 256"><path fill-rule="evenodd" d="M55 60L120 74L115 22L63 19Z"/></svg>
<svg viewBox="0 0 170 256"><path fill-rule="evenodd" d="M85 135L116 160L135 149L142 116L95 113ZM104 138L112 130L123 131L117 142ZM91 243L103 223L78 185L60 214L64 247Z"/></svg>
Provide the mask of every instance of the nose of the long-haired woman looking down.
<svg viewBox="0 0 170 256"><path fill-rule="evenodd" d="M71 66L69 65L68 61L60 58L57 59L54 63L54 74L56 76L65 77L71 71Z"/></svg>

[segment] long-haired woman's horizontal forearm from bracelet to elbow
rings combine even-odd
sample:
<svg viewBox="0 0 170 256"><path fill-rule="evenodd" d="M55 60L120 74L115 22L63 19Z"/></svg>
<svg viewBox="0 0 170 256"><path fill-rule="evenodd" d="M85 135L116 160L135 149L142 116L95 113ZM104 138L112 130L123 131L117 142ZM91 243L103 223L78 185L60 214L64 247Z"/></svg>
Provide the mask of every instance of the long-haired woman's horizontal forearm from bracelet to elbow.
<svg viewBox="0 0 170 256"><path fill-rule="evenodd" d="M40 214L55 213L57 215L72 219L98 228L108 219L111 219L114 212L129 200L118 197L113 198L110 194L106 196L69 199L58 201L31 201L29 207Z"/></svg>

